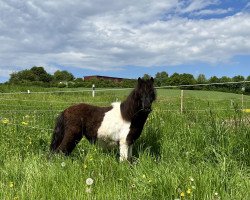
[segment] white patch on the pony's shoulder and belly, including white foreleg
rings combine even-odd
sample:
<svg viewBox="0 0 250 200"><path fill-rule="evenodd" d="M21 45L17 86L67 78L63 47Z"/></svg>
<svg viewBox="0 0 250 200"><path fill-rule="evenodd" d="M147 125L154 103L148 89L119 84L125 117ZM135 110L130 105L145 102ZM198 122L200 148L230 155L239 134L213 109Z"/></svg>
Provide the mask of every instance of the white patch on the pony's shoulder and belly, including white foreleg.
<svg viewBox="0 0 250 200"><path fill-rule="evenodd" d="M130 131L131 122L122 118L120 102L112 103L113 108L105 113L101 126L97 131L97 138L100 143L107 146L120 145L120 160L128 158L127 135Z"/></svg>

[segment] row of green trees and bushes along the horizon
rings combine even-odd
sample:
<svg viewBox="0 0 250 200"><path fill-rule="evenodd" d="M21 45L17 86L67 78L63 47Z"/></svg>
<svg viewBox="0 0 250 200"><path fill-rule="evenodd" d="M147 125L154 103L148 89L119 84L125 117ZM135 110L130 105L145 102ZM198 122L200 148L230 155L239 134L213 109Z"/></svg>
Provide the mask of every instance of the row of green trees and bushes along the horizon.
<svg viewBox="0 0 250 200"><path fill-rule="evenodd" d="M150 78L150 75L144 74L144 79ZM204 74L194 77L188 73L174 73L171 76L165 72L158 72L154 76L155 86L179 86L179 85L195 85L195 84L210 84L210 83L226 83L226 82L242 82L250 81L250 75L244 77L241 75L234 77L217 77L212 76L206 78ZM49 74L43 67L34 66L31 69L22 70L10 74L10 79L6 84L21 84L21 85L39 85L43 87L134 87L136 79L124 79L121 82L114 82L112 80L91 79L83 80L82 78L75 78L74 75L66 70L56 71L54 74ZM223 84L211 86L190 86L183 87L183 89L206 89L206 90L220 90L229 92L245 92L250 93L249 83L239 84Z"/></svg>

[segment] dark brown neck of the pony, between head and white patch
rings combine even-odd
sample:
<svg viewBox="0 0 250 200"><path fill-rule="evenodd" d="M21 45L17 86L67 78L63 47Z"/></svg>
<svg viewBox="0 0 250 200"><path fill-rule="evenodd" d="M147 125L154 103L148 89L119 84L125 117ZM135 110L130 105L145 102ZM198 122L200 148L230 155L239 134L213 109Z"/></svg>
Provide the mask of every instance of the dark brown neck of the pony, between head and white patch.
<svg viewBox="0 0 250 200"><path fill-rule="evenodd" d="M134 89L127 99L121 103L121 114L126 121L131 121L138 111L140 111L140 103L137 101L138 98Z"/></svg>

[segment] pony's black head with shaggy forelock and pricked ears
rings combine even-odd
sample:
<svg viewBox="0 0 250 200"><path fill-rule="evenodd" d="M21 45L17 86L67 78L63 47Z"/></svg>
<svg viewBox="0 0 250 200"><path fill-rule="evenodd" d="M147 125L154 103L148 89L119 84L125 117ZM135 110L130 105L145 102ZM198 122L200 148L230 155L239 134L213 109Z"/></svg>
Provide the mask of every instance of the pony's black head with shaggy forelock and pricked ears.
<svg viewBox="0 0 250 200"><path fill-rule="evenodd" d="M145 112L151 111L151 105L156 99L156 91L154 89L154 79L151 77L148 80L138 78L136 87L136 96L138 106Z"/></svg>

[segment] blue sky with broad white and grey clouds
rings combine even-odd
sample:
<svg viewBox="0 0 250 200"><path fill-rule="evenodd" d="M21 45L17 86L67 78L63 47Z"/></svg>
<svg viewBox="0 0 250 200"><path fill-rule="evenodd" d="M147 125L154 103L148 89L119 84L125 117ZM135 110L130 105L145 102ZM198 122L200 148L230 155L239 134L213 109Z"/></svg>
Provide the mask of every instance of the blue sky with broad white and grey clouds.
<svg viewBox="0 0 250 200"><path fill-rule="evenodd" d="M33 66L75 77L250 75L249 0L0 0L0 82Z"/></svg>

